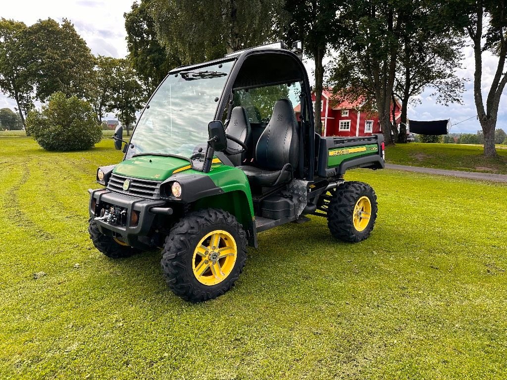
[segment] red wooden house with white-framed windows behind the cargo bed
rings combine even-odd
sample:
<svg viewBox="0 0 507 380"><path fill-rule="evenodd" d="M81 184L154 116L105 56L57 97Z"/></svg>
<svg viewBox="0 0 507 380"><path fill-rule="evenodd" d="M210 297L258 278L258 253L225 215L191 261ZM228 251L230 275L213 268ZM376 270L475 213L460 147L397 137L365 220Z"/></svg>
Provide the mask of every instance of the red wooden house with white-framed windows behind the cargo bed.
<svg viewBox="0 0 507 380"><path fill-rule="evenodd" d="M363 102L360 99L352 103L345 101L332 107L332 95L330 91L322 91L320 118L324 136L369 136L382 133L378 113L361 110ZM315 94L312 94L312 102L315 109ZM401 109L402 105L396 100L394 105L396 123L400 122ZM294 110L296 116L299 116L300 106L298 105Z"/></svg>

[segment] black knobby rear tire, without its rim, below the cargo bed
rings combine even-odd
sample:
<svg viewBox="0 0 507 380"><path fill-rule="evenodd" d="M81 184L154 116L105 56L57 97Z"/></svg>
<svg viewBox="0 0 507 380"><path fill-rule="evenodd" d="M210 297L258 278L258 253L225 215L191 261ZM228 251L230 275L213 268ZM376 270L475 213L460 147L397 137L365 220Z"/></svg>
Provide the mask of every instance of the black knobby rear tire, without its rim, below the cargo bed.
<svg viewBox="0 0 507 380"><path fill-rule="evenodd" d="M328 208L328 227L336 239L357 243L367 239L377 218L377 196L373 188L364 182L344 182L331 192L332 199ZM354 226L354 208L362 197L368 197L371 203L371 215L363 231Z"/></svg>

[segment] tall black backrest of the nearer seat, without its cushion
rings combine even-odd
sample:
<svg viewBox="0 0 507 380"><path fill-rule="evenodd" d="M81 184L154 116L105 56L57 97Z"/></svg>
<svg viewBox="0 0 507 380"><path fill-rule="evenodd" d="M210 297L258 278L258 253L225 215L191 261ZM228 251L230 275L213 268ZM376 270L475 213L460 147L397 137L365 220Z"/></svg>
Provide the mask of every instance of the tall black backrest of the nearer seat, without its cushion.
<svg viewBox="0 0 507 380"><path fill-rule="evenodd" d="M277 100L273 115L264 129L256 147L257 166L267 170L281 170L299 163L299 125L292 103L288 99Z"/></svg>

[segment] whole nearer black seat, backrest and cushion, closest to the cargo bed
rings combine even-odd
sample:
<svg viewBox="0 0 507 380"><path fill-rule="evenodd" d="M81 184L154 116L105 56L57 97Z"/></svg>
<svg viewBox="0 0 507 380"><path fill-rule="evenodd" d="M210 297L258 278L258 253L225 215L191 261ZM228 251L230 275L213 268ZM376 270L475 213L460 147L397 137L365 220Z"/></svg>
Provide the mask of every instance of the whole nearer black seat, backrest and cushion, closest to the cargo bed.
<svg viewBox="0 0 507 380"><path fill-rule="evenodd" d="M299 163L299 125L292 103L277 100L255 150L256 166L240 166L251 185L273 186L291 180Z"/></svg>

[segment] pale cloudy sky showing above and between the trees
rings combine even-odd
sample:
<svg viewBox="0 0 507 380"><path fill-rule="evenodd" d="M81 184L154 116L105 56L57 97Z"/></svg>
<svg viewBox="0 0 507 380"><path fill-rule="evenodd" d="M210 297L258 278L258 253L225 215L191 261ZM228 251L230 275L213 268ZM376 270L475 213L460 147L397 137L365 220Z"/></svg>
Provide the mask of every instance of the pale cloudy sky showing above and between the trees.
<svg viewBox="0 0 507 380"><path fill-rule="evenodd" d="M125 41L125 27L123 14L130 10L133 0L17 0L8 2L2 6L0 17L23 21L27 25L37 22L38 19L48 17L57 21L67 18L74 23L76 30L88 44L93 54L112 57L125 57L127 44ZM463 68L457 71L461 78L469 81L465 84L466 91L463 94L463 104L450 104L448 107L440 105L430 96L431 89L421 94L421 104L410 105L408 110L409 119L412 120L444 120L450 119L453 133L476 133L481 129L476 118L456 125L477 113L474 103L473 78L474 58L470 46L463 49L465 56ZM327 61L331 61L328 58ZM310 80L313 79L312 62L306 60ZM495 57L484 54L483 64L483 95L488 91L491 84L495 65ZM507 131L507 96L502 96L498 111L497 128ZM14 108L13 100L0 93L0 108Z"/></svg>

